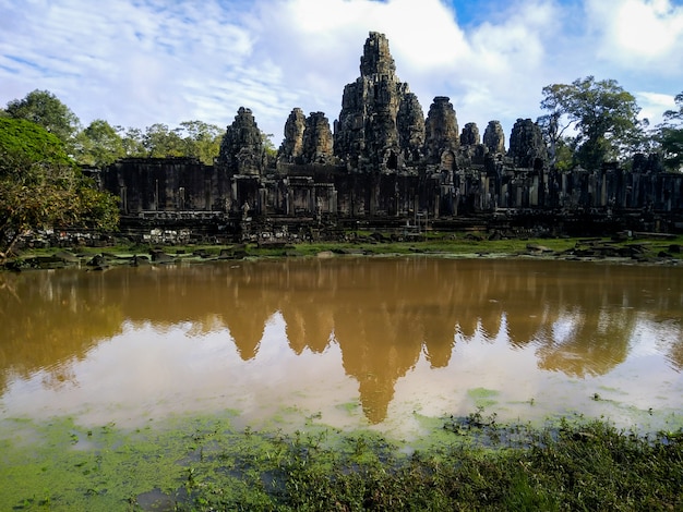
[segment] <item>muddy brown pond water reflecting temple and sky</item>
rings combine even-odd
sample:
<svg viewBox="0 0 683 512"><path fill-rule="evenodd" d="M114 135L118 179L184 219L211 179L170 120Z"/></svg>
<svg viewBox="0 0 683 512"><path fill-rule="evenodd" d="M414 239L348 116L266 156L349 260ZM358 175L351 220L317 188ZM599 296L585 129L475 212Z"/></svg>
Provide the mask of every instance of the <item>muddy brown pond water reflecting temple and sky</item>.
<svg viewBox="0 0 683 512"><path fill-rule="evenodd" d="M233 411L402 436L683 414L683 268L329 258L0 275L0 417L142 425Z"/></svg>

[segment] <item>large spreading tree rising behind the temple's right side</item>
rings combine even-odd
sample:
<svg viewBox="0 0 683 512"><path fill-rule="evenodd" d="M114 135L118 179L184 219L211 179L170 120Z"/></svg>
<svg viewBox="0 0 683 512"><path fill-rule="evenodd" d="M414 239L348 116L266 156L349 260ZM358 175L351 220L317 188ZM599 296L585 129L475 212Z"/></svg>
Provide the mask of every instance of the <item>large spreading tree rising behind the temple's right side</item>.
<svg viewBox="0 0 683 512"><path fill-rule="evenodd" d="M570 129L574 132L562 138L574 149L576 163L587 169L623 156L640 130L635 97L613 80L587 76L568 85L548 85L541 108L550 111L549 122L556 123L555 136Z"/></svg>

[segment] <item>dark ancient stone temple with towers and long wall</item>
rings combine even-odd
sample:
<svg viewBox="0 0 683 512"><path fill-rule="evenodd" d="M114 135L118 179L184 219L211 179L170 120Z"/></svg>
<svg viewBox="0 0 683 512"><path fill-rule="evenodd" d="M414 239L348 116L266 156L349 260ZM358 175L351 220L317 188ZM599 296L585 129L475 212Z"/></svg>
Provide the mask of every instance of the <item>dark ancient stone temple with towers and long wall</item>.
<svg viewBox="0 0 683 512"><path fill-rule="evenodd" d="M559 171L537 123L518 119L506 150L499 121L488 122L483 141L474 122L459 132L447 96L433 98L426 118L380 33L369 34L360 76L344 87L333 125L334 133L323 112L307 117L293 108L271 161L253 112L241 107L214 166L123 159L97 178L120 197L124 225L200 222L205 232L237 240L278 230L338 232L361 222L402 236L428 224L455 229L465 219L478 227L584 227L586 212L597 225L618 218L628 229L683 230L683 174L663 172L644 155L630 171Z"/></svg>

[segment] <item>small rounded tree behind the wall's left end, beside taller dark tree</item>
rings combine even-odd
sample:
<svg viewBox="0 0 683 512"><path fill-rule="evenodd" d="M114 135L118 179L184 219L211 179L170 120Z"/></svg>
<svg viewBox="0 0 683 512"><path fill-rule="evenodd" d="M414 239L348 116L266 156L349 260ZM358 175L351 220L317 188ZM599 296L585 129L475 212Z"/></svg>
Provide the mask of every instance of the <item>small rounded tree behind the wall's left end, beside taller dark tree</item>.
<svg viewBox="0 0 683 512"><path fill-rule="evenodd" d="M119 129L121 130L121 129ZM119 130L96 119L75 138L75 158L82 166L104 168L125 156Z"/></svg>

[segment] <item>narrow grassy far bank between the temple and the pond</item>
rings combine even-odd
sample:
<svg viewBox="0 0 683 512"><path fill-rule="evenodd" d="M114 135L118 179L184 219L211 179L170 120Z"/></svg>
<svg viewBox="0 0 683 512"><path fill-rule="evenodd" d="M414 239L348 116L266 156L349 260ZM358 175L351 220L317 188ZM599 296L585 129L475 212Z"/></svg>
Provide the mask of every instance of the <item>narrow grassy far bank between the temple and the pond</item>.
<svg viewBox="0 0 683 512"><path fill-rule="evenodd" d="M534 257L608 260L634 264L683 261L683 235L632 233L614 237L501 239L479 233L431 232L419 241L396 241L382 232L354 232L345 242L261 243L231 245L118 244L106 247L24 248L0 264L4 270L82 267L104 270L120 265L199 264L216 260L281 257L334 257L344 255L430 255L486 258Z"/></svg>

